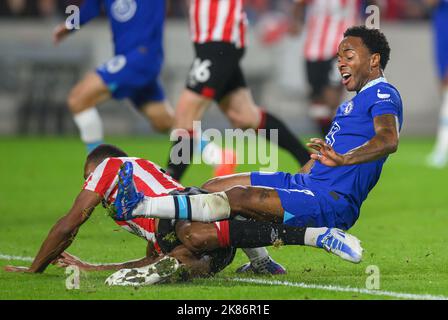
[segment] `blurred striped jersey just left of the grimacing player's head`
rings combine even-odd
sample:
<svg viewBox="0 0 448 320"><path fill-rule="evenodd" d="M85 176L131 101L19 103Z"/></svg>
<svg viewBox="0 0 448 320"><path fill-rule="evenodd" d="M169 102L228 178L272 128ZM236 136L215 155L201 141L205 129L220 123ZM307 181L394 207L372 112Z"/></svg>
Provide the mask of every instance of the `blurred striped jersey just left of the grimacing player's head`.
<svg viewBox="0 0 448 320"><path fill-rule="evenodd" d="M336 56L346 29L357 25L362 0L296 0L307 6L305 58L329 60Z"/></svg>

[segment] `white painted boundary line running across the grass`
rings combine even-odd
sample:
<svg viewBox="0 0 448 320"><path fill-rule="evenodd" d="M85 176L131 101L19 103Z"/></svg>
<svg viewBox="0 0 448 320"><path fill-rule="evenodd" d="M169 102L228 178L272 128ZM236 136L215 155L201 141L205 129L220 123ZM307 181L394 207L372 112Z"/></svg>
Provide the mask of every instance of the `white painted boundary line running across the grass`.
<svg viewBox="0 0 448 320"><path fill-rule="evenodd" d="M33 257L22 257L22 256L11 256L0 253L0 260L7 261L33 261ZM278 280L265 280L265 279L253 279L253 278L231 278L227 279L233 282L240 283L252 283L261 284L269 286L284 286L284 287L295 287L302 289L315 289L315 290L325 290L332 292L351 292L358 294L368 294L374 296L384 296L396 299L412 299L412 300L448 300L447 296L434 296L430 294L413 294L413 293L401 293L393 291L381 291L381 290L369 290L353 287L342 287L334 285L320 285L320 284L307 284L303 282L291 282L291 281L278 281Z"/></svg>

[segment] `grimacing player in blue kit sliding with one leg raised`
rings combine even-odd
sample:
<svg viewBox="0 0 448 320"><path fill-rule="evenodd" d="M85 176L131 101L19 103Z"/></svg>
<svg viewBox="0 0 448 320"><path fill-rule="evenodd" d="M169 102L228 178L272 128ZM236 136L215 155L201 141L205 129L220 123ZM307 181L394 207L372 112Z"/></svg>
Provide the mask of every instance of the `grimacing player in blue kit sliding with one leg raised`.
<svg viewBox="0 0 448 320"><path fill-rule="evenodd" d="M215 193L187 196L133 196L124 179L125 197L116 202L117 219L158 217L215 221L236 215L296 227L348 230L361 204L379 180L384 162L398 148L403 121L398 91L384 78L390 47L379 30L353 27L339 45L342 83L357 95L342 104L326 137L308 145L318 153L299 174L233 175L207 182Z"/></svg>

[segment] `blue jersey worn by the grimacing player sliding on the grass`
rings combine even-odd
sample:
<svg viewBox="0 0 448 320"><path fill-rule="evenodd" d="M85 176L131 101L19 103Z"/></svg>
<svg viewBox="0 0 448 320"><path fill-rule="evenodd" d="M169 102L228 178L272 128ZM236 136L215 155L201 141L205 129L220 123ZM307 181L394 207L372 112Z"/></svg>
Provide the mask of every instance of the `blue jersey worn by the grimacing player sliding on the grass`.
<svg viewBox="0 0 448 320"><path fill-rule="evenodd" d="M395 115L401 129L403 106L400 94L386 79L379 78L339 107L326 142L341 154L359 147L375 136L374 117L385 114ZM303 180L306 185L345 196L359 212L362 202L378 182L386 159L341 167L328 167L316 161Z"/></svg>

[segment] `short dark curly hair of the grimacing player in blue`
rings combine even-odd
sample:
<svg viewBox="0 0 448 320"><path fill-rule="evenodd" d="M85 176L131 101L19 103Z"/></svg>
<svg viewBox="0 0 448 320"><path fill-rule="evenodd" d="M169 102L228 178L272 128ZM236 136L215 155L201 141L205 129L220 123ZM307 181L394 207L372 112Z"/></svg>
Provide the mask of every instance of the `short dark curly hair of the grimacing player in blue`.
<svg viewBox="0 0 448 320"><path fill-rule="evenodd" d="M370 53L379 53L381 56L381 68L386 69L390 59L390 46L384 33L378 29L368 29L365 26L355 26L348 28L344 32L344 37L361 38Z"/></svg>

